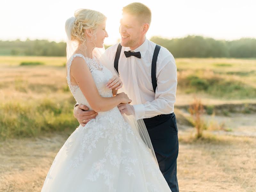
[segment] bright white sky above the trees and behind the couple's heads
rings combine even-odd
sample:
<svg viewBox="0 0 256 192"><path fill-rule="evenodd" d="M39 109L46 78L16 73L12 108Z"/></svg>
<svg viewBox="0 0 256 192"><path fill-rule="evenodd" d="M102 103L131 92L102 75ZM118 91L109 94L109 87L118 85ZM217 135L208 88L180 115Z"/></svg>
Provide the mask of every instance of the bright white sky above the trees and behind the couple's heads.
<svg viewBox="0 0 256 192"><path fill-rule="evenodd" d="M214 39L256 38L255 0L9 0L0 6L0 40L27 38L65 41L65 22L77 9L88 8L107 16L109 37L115 44L122 8L132 2L147 5L152 22L147 38L200 35Z"/></svg>

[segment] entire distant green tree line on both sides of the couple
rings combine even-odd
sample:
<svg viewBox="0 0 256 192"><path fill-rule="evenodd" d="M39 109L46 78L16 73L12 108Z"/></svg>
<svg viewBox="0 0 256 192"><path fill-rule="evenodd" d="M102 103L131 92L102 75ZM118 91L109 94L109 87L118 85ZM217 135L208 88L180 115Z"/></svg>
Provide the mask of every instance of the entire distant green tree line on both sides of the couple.
<svg viewBox="0 0 256 192"><path fill-rule="evenodd" d="M256 39L241 38L226 41L205 38L203 36L186 36L184 38L166 39L154 36L151 41L167 48L177 57L232 57L256 58ZM105 45L108 48L109 45ZM27 56L66 56L66 43L48 40L0 41L0 55Z"/></svg>

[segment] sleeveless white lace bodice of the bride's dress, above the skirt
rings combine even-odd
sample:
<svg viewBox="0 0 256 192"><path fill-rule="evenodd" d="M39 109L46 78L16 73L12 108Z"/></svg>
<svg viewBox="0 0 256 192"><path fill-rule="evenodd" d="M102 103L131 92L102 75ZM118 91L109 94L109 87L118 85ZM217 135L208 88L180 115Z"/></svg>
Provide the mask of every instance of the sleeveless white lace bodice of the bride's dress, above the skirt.
<svg viewBox="0 0 256 192"><path fill-rule="evenodd" d="M87 64L88 68L92 73L92 77L100 95L102 97L112 97L112 90L109 90L106 86L108 80L113 76L112 73L106 67L104 67L96 57L93 57L91 59L88 57L84 57L84 55L82 54L74 54L67 61L67 81L69 89L72 92L76 102L79 104L84 104L91 109L91 106L84 97L84 94L80 90L79 86L70 82L70 67L75 57L82 57L85 60L85 63Z"/></svg>

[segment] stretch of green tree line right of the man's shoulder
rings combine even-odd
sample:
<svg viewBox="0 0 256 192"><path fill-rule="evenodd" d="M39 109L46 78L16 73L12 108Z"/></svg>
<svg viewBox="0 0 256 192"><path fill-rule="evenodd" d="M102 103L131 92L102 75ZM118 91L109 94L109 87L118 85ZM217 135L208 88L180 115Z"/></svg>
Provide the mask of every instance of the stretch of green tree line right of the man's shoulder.
<svg viewBox="0 0 256 192"><path fill-rule="evenodd" d="M152 37L151 41L167 48L174 57L256 57L256 39L253 38L226 41L202 36L175 39Z"/></svg>

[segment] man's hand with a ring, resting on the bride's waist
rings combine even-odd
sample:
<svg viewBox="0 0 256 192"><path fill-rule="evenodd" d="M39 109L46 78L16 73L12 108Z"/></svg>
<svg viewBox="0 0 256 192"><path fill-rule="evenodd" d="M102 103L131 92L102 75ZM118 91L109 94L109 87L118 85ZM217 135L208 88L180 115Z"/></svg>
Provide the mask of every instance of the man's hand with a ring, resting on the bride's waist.
<svg viewBox="0 0 256 192"><path fill-rule="evenodd" d="M88 111L88 109L89 108L83 104L79 104L74 108L74 116L82 126L85 126L90 120L98 115L97 112L93 110Z"/></svg>

